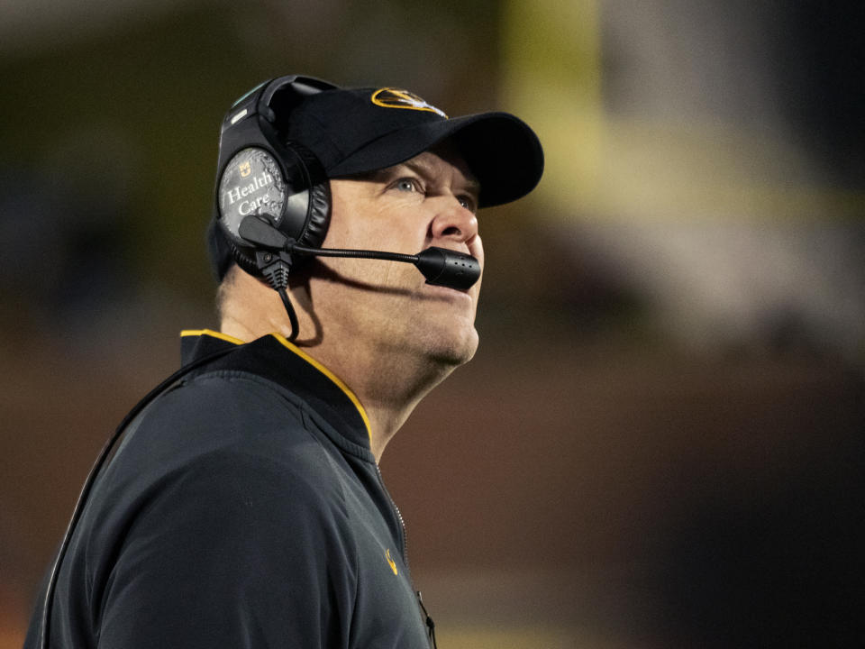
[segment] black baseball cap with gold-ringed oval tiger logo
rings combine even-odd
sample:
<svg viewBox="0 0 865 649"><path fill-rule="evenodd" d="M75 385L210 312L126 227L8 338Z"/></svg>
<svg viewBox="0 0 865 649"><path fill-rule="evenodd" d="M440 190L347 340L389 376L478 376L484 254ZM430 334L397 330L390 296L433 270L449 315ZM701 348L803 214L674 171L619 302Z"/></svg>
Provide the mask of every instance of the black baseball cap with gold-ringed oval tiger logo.
<svg viewBox="0 0 865 649"><path fill-rule="evenodd" d="M449 140L478 179L479 207L524 197L541 180L543 150L533 130L513 114L449 117L414 93L396 87L327 87L294 105L281 133L321 162L327 178L394 166ZM232 263L220 228L208 230L211 260L222 279Z"/></svg>

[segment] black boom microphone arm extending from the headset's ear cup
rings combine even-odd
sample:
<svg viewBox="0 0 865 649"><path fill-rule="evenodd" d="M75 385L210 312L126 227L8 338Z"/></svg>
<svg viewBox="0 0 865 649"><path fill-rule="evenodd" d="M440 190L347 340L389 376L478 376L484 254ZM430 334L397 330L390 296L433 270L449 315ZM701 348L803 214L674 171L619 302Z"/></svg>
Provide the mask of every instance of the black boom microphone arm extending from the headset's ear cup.
<svg viewBox="0 0 865 649"><path fill-rule="evenodd" d="M285 251L317 257L351 257L354 259L378 259L401 261L414 264L433 286L465 290L474 285L480 277L480 262L468 254L431 246L416 255L400 252L345 250L342 248L310 248L301 245L256 215L249 215L241 221L238 233L246 241L272 251Z"/></svg>

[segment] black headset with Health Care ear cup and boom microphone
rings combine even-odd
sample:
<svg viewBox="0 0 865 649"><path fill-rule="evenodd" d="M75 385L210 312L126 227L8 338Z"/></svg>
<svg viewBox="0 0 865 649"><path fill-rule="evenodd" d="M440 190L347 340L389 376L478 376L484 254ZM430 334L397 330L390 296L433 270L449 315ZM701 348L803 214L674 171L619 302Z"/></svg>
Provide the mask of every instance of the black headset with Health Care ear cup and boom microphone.
<svg viewBox="0 0 865 649"><path fill-rule="evenodd" d="M321 247L331 219L330 183L314 153L286 133L297 105L335 88L298 75L266 81L232 105L220 135L214 221L238 265L266 279L282 298L290 341L298 324L287 295L288 275L307 256L412 263L428 284L458 289L480 277L477 259L434 246L416 255Z"/></svg>

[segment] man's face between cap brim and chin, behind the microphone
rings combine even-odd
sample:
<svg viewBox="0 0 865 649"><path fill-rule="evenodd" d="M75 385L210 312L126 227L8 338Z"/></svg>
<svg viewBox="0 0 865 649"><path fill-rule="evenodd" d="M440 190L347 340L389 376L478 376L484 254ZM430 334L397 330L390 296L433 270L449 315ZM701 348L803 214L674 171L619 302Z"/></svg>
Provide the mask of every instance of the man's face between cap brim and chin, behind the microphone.
<svg viewBox="0 0 865 649"><path fill-rule="evenodd" d="M333 179L323 247L416 254L438 246L467 252L483 268L478 189L464 160L448 148L361 178ZM469 361L477 349L479 280L460 291L426 284L412 264L321 258L317 263L310 297L325 335L329 327L344 328L338 334L360 334L378 352L408 352L451 365Z"/></svg>

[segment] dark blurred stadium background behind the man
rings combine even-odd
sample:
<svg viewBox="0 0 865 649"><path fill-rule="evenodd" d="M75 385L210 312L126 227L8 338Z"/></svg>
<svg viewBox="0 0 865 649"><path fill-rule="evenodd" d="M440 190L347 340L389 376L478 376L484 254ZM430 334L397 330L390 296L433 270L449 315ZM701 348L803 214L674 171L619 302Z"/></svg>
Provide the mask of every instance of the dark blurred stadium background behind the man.
<svg viewBox="0 0 865 649"><path fill-rule="evenodd" d="M861 646L865 5L4 0L0 649L91 462L214 327L219 124L266 78L504 109L475 361L382 471L448 647Z"/></svg>

